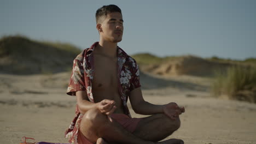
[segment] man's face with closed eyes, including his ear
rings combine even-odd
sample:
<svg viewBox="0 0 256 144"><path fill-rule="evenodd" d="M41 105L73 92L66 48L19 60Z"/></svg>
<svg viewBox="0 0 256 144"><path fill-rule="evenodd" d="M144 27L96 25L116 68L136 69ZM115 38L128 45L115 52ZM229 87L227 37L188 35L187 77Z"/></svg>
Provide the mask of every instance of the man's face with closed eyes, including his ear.
<svg viewBox="0 0 256 144"><path fill-rule="evenodd" d="M101 28L101 38L112 43L118 43L123 37L123 16L120 13L115 12L107 14L104 18L105 19L103 19L101 24L98 24Z"/></svg>

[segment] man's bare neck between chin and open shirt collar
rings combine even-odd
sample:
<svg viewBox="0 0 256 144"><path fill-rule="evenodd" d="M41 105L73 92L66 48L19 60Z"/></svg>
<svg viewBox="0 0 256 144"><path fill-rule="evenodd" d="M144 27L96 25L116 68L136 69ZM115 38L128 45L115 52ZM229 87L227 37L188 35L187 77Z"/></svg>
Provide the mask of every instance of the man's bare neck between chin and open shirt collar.
<svg viewBox="0 0 256 144"><path fill-rule="evenodd" d="M117 57L117 43L100 40L96 51L109 57Z"/></svg>

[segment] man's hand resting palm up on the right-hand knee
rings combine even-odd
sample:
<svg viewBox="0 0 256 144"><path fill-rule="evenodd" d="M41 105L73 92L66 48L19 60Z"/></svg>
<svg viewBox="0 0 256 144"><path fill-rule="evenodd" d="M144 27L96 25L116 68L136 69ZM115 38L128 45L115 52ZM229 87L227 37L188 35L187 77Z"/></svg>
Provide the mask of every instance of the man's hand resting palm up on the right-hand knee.
<svg viewBox="0 0 256 144"><path fill-rule="evenodd" d="M179 107L176 103L169 103L163 106L163 111L165 115L170 117L171 119L176 119L181 115L183 112L185 112L185 108Z"/></svg>

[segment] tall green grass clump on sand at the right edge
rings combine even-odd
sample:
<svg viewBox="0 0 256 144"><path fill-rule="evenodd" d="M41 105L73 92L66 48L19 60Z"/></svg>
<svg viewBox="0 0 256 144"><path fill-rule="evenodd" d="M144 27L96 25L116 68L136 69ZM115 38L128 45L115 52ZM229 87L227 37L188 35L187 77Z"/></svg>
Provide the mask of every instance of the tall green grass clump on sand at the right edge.
<svg viewBox="0 0 256 144"><path fill-rule="evenodd" d="M217 71L212 94L256 103L256 68L236 66L228 68L226 72Z"/></svg>

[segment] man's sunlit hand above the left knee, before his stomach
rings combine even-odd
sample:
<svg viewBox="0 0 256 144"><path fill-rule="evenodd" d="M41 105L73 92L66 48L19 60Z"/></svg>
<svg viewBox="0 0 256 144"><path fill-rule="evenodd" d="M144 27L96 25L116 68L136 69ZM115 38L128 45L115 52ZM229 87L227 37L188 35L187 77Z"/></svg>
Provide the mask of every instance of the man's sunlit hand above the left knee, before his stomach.
<svg viewBox="0 0 256 144"><path fill-rule="evenodd" d="M102 100L100 103L98 103L97 107L98 110L105 115L111 115L115 109L117 109L117 106L115 106L115 101L108 99Z"/></svg>

